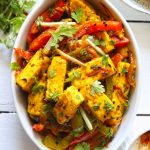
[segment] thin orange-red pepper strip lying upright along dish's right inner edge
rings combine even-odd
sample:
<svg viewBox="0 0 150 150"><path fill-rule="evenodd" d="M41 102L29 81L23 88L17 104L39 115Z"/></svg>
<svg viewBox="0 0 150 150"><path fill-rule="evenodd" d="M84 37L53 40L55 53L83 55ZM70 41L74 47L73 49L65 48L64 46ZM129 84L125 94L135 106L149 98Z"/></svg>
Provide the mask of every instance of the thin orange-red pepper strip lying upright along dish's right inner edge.
<svg viewBox="0 0 150 150"><path fill-rule="evenodd" d="M135 74L136 62L132 52L129 53L129 60L130 60L130 67L127 73L127 80L132 87L135 87L136 83L134 79L134 74Z"/></svg>

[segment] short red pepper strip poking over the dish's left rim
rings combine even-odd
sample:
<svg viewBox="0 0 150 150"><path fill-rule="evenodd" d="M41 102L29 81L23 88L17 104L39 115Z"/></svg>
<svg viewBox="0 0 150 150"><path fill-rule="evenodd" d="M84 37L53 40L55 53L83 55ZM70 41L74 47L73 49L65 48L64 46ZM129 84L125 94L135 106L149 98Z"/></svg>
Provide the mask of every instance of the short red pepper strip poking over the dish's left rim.
<svg viewBox="0 0 150 150"><path fill-rule="evenodd" d="M34 55L34 53L25 51L21 48L14 48L14 51L17 56L20 56L20 57L24 58L25 60L30 60Z"/></svg>

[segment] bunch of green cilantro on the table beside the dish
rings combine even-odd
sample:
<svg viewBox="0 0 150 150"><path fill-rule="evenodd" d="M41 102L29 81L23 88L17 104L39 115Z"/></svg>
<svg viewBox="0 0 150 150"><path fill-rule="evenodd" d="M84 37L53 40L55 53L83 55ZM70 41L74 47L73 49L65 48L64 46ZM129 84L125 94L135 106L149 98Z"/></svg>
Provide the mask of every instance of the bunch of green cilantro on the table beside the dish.
<svg viewBox="0 0 150 150"><path fill-rule="evenodd" d="M0 43L12 48L26 14L35 0L0 0L0 30L3 32Z"/></svg>

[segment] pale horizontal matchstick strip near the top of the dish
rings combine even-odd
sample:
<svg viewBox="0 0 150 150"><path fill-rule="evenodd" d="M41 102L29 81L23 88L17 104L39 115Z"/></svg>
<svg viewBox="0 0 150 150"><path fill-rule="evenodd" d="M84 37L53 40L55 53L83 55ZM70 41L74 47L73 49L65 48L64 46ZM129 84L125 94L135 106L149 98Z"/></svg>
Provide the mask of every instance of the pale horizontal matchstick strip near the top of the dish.
<svg viewBox="0 0 150 150"><path fill-rule="evenodd" d="M44 27L57 27L63 24L76 25L76 22L40 22L40 25Z"/></svg>

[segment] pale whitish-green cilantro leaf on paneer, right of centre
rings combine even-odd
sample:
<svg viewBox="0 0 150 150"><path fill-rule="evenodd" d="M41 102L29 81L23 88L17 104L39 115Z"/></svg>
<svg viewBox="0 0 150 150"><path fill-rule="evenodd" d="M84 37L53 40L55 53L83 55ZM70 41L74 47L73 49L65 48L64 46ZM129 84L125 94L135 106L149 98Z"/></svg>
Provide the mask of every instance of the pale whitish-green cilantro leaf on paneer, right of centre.
<svg viewBox="0 0 150 150"><path fill-rule="evenodd" d="M100 81L93 82L91 86L91 95L94 96L94 94L102 94L105 92L104 86L101 84Z"/></svg>

